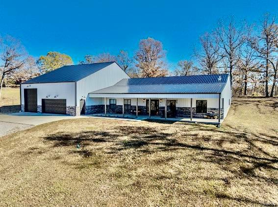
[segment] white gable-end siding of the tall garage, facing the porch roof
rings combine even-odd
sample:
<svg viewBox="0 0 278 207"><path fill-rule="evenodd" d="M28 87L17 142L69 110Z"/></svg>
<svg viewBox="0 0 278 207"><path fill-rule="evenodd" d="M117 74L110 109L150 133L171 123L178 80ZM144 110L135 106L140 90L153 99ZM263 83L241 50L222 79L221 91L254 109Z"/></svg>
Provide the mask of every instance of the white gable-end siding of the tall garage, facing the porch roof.
<svg viewBox="0 0 278 207"><path fill-rule="evenodd" d="M114 84L118 83L120 80L124 78L129 78L129 76L116 63L113 63L77 81L76 82L77 106L79 106L79 100L83 97L86 98L86 105L94 105L94 103L91 102L92 99L88 97L89 92L93 92L109 86L113 86Z"/></svg>

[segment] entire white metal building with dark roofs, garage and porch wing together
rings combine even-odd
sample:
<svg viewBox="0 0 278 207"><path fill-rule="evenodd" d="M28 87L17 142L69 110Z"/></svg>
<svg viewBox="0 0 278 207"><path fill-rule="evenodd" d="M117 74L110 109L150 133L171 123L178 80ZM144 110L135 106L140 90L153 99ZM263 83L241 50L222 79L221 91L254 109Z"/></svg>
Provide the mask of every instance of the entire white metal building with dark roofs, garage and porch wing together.
<svg viewBox="0 0 278 207"><path fill-rule="evenodd" d="M21 84L23 112L189 121L209 115L220 124L230 102L228 74L130 78L115 62L64 66Z"/></svg>

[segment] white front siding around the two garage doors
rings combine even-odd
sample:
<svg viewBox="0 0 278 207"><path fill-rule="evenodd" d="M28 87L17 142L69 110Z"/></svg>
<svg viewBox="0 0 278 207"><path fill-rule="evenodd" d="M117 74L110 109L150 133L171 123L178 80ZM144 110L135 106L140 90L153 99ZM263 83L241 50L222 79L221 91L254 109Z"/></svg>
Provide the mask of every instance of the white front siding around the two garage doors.
<svg viewBox="0 0 278 207"><path fill-rule="evenodd" d="M38 105L42 105L42 99L67 99L67 106L75 106L75 83L33 83L21 85L21 103L24 104L24 89L37 89ZM46 97L50 95L50 97Z"/></svg>

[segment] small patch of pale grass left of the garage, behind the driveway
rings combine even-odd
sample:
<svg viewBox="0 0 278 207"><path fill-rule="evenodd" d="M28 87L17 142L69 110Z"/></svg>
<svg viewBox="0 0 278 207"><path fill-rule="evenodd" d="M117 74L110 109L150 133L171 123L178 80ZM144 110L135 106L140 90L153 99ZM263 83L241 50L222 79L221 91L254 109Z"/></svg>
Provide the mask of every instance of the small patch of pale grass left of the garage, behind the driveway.
<svg viewBox="0 0 278 207"><path fill-rule="evenodd" d="M0 97L0 106L19 105L20 89L19 88L3 88Z"/></svg>

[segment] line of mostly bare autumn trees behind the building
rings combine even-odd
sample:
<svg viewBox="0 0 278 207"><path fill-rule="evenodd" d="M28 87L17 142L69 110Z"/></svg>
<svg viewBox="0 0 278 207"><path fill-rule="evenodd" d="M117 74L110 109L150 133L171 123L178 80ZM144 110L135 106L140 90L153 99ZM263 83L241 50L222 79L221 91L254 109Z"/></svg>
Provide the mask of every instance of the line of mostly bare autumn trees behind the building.
<svg viewBox="0 0 278 207"><path fill-rule="evenodd" d="M254 25L236 22L233 17L221 19L212 31L200 37L192 58L178 61L172 71L162 43L150 37L139 41L133 57L125 50L118 55L87 54L78 64L112 61L130 77L229 73L233 94L272 97L278 95L278 24L269 14L264 15L257 30ZM72 64L69 55L55 51L35 60L18 40L6 36L0 40L0 95L7 82L25 81Z"/></svg>

